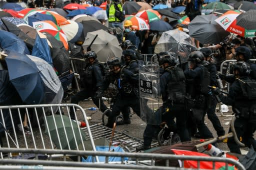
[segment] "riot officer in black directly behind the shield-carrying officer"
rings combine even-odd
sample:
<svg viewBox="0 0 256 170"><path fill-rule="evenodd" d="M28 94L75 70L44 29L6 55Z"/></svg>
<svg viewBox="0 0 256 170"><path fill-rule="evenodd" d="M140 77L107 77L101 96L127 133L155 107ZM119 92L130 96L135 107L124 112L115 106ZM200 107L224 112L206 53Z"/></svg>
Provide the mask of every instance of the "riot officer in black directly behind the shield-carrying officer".
<svg viewBox="0 0 256 170"><path fill-rule="evenodd" d="M186 91L189 95L187 100L187 109L189 110L189 116L191 121L189 129L191 135L195 134L195 127L198 129L198 135L201 138L208 139L213 138L211 132L204 124L204 116L207 109L207 101L210 100L208 94L208 85L210 84L209 72L206 67L203 66L204 55L200 51L193 51L188 56L189 69L184 71L187 79ZM195 123L191 125L191 123Z"/></svg>

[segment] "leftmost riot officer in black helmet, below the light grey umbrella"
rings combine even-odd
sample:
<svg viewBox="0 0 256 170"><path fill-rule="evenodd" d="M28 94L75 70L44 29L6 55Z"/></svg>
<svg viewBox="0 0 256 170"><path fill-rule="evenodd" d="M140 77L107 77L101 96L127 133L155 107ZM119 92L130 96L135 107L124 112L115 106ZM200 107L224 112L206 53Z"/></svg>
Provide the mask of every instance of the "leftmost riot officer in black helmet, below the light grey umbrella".
<svg viewBox="0 0 256 170"><path fill-rule="evenodd" d="M102 99L96 98L96 91L103 83L103 66L98 62L97 55L94 51L88 51L84 57L87 60L87 64L84 68L84 74L82 76L84 88L71 97L71 102L78 104L79 101L91 97L93 103L104 112L107 107L104 105ZM100 103L100 105L99 105ZM74 119L74 111L70 109L70 117Z"/></svg>

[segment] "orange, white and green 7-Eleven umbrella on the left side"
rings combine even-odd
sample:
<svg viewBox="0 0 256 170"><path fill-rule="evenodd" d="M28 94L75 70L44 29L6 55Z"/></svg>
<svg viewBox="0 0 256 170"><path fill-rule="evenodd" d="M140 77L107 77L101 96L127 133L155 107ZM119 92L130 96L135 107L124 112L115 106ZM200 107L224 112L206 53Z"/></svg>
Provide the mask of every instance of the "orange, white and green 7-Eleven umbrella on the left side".
<svg viewBox="0 0 256 170"><path fill-rule="evenodd" d="M64 32L52 21L46 20L33 22L33 27L39 32L48 32L49 34L53 35L58 41L63 43L66 50L68 49L68 44Z"/></svg>

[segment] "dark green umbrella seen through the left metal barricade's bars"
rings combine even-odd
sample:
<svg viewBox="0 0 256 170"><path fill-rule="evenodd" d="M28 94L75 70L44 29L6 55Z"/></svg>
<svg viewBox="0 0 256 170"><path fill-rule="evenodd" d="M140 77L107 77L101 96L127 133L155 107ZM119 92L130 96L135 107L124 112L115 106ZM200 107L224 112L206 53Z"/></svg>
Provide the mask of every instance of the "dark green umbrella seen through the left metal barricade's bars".
<svg viewBox="0 0 256 170"><path fill-rule="evenodd" d="M57 149L76 150L85 140L85 133L67 116L47 116L44 125L44 133L48 136L50 134L51 141Z"/></svg>

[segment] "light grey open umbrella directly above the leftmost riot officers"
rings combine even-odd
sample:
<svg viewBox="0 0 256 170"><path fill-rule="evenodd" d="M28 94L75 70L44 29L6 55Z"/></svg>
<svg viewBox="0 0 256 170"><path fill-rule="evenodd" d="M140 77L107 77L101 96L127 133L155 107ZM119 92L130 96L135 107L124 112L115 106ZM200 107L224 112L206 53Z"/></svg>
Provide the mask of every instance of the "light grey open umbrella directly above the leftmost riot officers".
<svg viewBox="0 0 256 170"><path fill-rule="evenodd" d="M89 46L96 35L98 36L90 48L92 51L95 51L99 61L107 62L109 58L121 57L122 49L119 46L116 36L103 30L88 32L86 35L88 39L86 39L82 44L83 49L86 49Z"/></svg>

